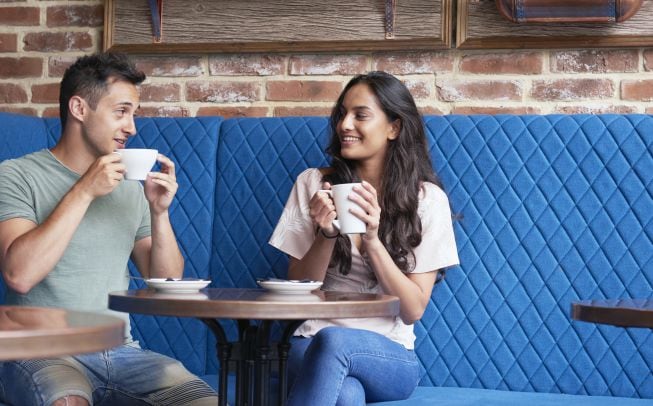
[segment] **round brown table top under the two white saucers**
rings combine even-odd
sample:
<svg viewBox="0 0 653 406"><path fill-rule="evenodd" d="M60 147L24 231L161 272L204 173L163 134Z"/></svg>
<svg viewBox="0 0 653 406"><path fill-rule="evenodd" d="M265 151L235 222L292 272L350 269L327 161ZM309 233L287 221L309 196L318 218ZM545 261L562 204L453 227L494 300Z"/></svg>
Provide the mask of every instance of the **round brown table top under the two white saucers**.
<svg viewBox="0 0 653 406"><path fill-rule="evenodd" d="M281 295L263 289L209 288L196 293L176 294L140 289L110 293L109 308L178 317L305 320L396 316L399 314L399 298L321 290Z"/></svg>

